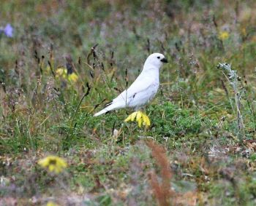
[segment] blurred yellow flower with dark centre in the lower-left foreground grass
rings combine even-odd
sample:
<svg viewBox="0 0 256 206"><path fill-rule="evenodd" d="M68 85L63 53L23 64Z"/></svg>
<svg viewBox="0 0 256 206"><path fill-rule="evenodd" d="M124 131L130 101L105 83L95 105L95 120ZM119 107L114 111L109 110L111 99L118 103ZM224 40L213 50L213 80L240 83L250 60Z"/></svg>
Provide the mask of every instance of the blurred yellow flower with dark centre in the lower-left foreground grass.
<svg viewBox="0 0 256 206"><path fill-rule="evenodd" d="M67 167L67 162L64 159L56 156L48 156L44 159L39 159L38 164L42 167L48 168L50 172L61 173L65 167Z"/></svg>

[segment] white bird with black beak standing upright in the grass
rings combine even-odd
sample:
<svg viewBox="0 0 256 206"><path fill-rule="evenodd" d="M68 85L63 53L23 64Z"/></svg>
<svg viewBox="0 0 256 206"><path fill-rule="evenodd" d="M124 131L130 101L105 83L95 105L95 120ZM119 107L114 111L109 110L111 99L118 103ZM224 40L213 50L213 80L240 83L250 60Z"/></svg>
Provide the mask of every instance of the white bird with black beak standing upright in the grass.
<svg viewBox="0 0 256 206"><path fill-rule="evenodd" d="M157 94L159 68L161 68L162 63L167 63L164 55L159 53L149 55L144 63L143 71L141 71L135 82L94 116L105 114L113 109L126 107L135 108L138 111L141 106L144 106Z"/></svg>

